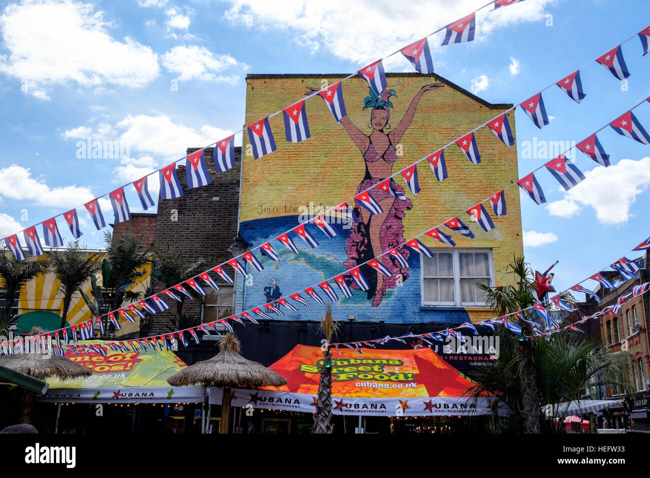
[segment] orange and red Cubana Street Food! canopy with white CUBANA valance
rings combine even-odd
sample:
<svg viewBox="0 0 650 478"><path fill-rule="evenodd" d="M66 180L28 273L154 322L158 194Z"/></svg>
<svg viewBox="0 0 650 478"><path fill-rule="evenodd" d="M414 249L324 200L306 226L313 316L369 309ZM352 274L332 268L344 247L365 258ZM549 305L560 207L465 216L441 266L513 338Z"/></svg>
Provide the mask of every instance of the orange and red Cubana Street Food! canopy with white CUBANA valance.
<svg viewBox="0 0 650 478"><path fill-rule="evenodd" d="M319 347L296 345L270 369L287 378L280 388L233 390L233 406L276 408L315 412L319 369L323 354ZM332 351L332 412L374 416L481 415L491 413L494 399L467 397L474 385L442 360L432 349L374 350L363 355L350 349ZM211 403L220 405L222 391L213 387ZM509 411L504 403L494 405L500 414Z"/></svg>

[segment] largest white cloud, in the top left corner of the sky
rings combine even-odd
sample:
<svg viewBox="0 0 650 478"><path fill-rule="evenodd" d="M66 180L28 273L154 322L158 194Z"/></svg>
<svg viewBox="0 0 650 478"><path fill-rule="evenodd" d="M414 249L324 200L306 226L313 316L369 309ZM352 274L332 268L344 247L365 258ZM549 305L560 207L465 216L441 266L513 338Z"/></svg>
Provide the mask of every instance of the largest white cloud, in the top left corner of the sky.
<svg viewBox="0 0 650 478"><path fill-rule="evenodd" d="M55 0L12 3L0 16L8 55L0 72L22 82L22 89L49 100L45 86L105 83L138 88L159 74L153 50L131 38L119 42L107 32L111 23L89 3ZM97 90L97 88L96 88Z"/></svg>

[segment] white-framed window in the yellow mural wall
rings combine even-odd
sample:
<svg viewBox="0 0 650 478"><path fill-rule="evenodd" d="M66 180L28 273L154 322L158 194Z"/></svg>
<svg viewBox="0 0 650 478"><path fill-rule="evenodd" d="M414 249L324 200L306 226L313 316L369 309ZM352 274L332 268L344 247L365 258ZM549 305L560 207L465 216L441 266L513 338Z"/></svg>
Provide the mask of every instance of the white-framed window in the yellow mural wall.
<svg viewBox="0 0 650 478"><path fill-rule="evenodd" d="M485 306L484 291L476 284L494 285L491 249L432 249L422 256L423 306Z"/></svg>

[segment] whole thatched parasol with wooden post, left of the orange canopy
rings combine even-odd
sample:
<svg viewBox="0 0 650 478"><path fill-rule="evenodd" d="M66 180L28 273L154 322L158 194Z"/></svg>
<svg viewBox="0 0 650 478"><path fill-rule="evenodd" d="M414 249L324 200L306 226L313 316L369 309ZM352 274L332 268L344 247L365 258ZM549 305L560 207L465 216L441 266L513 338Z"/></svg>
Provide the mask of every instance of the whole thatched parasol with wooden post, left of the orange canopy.
<svg viewBox="0 0 650 478"><path fill-rule="evenodd" d="M175 387L188 385L223 387L224 396L221 401L219 433L227 433L232 387L281 387L287 384L287 379L262 364L242 357L240 354L241 344L233 334L226 334L220 339L219 349L220 352L213 358L190 365L172 375L167 382Z"/></svg>

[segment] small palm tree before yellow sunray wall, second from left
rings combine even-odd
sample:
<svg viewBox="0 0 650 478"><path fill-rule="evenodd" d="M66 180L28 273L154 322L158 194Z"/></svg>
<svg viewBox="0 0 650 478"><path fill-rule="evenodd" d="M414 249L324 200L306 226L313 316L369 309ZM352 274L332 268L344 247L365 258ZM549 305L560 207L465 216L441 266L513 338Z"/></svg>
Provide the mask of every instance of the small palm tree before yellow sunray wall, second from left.
<svg viewBox="0 0 650 478"><path fill-rule="evenodd" d="M63 294L63 311L61 313L61 326L66 326L66 317L72 295L81 290L81 286L92 278L99 270L99 254L89 254L85 246L79 245L79 240L68 243L68 248L51 250L49 261L52 271L59 279L59 291Z"/></svg>

